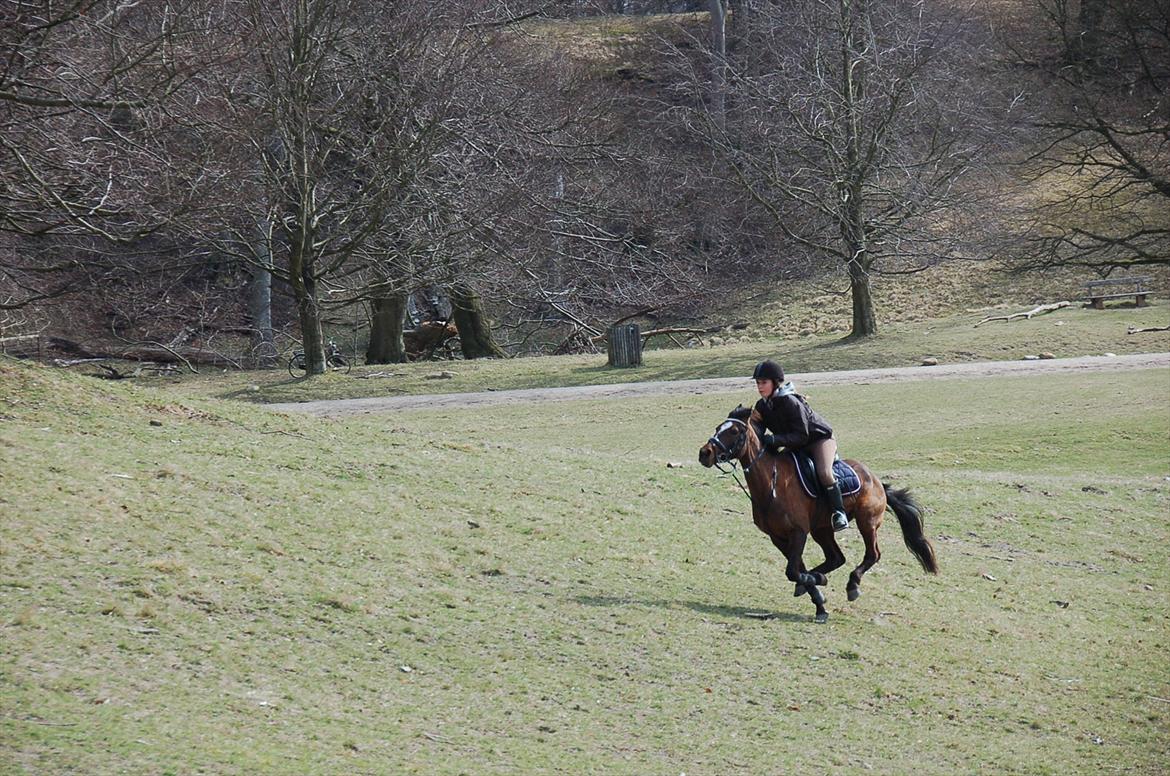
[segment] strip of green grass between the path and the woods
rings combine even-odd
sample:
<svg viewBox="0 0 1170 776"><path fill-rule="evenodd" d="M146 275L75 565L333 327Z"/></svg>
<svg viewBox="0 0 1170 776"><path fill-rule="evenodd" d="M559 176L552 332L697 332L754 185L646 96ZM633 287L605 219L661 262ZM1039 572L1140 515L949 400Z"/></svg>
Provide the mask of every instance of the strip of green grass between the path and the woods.
<svg viewBox="0 0 1170 776"><path fill-rule="evenodd" d="M1028 309L1013 304L1010 311ZM883 327L883 334L863 342L842 342L839 331L801 336L780 324L775 311L744 331L727 330L703 338L696 348L652 349L645 365L635 369L606 366L605 353L552 356L477 362L426 362L358 366L350 375L291 379L283 370L214 372L154 380L176 396L218 394L250 401L305 401L420 393L550 387L675 380L701 377L750 376L764 357L779 359L789 373L914 366L923 358L942 363L1018 359L1052 352L1057 357L1104 352L1159 352L1170 350L1170 332L1128 335L1129 327L1170 324L1170 302L1147 308L1123 304L1106 310L1066 308L1031 321L1002 321L975 327L987 315L1004 310L980 309L929 321L902 321ZM805 320L805 318L801 318ZM801 324L813 325L813 324ZM777 335L779 331L782 336ZM452 378L436 379L440 372Z"/></svg>

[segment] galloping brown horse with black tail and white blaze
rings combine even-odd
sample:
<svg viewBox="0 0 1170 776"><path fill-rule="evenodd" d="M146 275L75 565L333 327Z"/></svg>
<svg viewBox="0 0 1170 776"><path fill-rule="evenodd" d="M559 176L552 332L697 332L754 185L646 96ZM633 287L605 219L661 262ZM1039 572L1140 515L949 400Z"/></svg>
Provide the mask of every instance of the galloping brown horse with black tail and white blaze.
<svg viewBox="0 0 1170 776"><path fill-rule="evenodd" d="M698 462L706 467L738 460L751 494L751 516L756 527L768 534L772 544L787 559L785 572L796 583L797 597L808 593L817 605L817 622L828 619L825 596L818 589L828 584L825 575L845 564L845 554L837 543L830 521L830 507L821 500L808 497L797 481L792 456L764 448L756 427L759 413L736 407L715 430L706 445L698 448ZM890 489L875 478L865 465L846 461L858 473L861 489L845 497L845 511L856 524L866 543L866 556L849 575L845 590L849 600L861 595L861 577L881 558L878 549L878 529L889 509L902 527L902 538L914 557L929 574L938 574L935 548L923 534L922 510L908 490ZM812 534L825 551L825 562L806 570L804 548Z"/></svg>

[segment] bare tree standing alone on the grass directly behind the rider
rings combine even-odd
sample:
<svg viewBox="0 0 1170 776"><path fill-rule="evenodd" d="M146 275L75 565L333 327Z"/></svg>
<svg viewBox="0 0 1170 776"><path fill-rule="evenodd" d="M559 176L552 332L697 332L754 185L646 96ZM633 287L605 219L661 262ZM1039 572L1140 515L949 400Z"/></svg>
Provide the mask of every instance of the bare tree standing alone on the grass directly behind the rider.
<svg viewBox="0 0 1170 776"><path fill-rule="evenodd" d="M696 77L700 121L775 227L840 262L852 336L873 335L880 262L947 255L935 227L980 149L983 107L957 85L978 40L913 0L768 4L737 29L725 122Z"/></svg>

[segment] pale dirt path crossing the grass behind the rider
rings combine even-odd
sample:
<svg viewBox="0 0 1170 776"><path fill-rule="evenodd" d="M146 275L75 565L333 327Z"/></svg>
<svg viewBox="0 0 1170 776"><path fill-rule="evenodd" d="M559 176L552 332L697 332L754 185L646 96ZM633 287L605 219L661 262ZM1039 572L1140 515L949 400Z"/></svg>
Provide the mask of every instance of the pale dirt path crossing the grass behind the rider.
<svg viewBox="0 0 1170 776"><path fill-rule="evenodd" d="M855 369L841 372L808 372L792 375L801 389L818 385L867 383L899 383L987 375L1051 375L1054 372L1101 372L1121 369L1155 369L1170 366L1170 353L1137 353L1133 356L1083 356L1049 360L976 362L942 364L938 366L901 366L896 369ZM1170 379L1168 379L1170 385ZM280 412L308 412L339 418L373 414L398 410L436 410L452 407L482 407L494 404L525 401L572 401L574 399L621 399L662 393L734 393L748 392L751 380L746 377L723 377L701 380L669 380L656 383L620 383L615 385L581 385L577 387L522 389L516 391L482 391L479 393L441 393L431 396L373 397L367 399L337 399L269 404Z"/></svg>

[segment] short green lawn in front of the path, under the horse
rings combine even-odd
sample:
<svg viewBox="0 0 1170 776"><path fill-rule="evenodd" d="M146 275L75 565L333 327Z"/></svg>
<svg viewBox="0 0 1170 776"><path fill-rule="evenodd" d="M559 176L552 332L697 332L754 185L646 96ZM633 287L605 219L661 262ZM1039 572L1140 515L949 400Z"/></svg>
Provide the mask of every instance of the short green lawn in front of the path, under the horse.
<svg viewBox="0 0 1170 776"><path fill-rule="evenodd" d="M1164 772L1168 396L818 389L942 574L890 516L849 604L851 530L814 625L695 461L746 380L329 421L0 362L0 771Z"/></svg>

